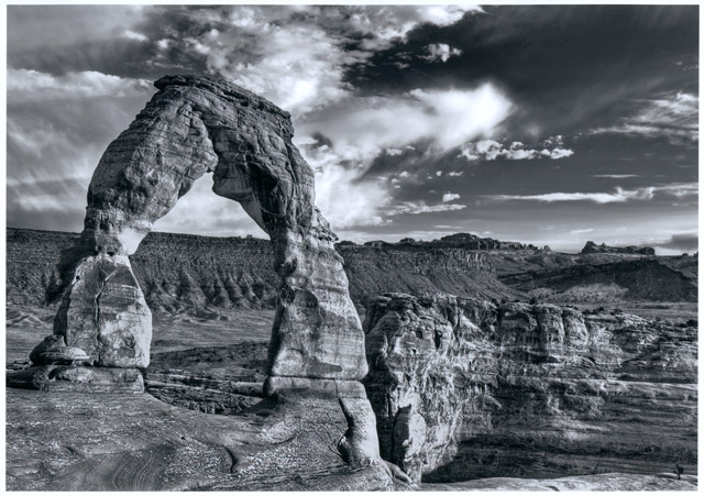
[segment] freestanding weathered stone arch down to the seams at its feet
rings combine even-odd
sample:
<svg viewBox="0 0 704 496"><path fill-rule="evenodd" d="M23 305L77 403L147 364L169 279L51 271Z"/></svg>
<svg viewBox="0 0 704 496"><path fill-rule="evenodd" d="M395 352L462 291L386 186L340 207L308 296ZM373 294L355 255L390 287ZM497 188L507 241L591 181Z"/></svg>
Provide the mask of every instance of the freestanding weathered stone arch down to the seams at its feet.
<svg viewBox="0 0 704 496"><path fill-rule="evenodd" d="M55 333L94 364L147 365L151 315L128 255L212 173L213 191L240 202L274 244L280 287L270 375L363 377L364 334L289 114L217 79L166 76L155 86L94 173L80 240L62 256L70 286Z"/></svg>

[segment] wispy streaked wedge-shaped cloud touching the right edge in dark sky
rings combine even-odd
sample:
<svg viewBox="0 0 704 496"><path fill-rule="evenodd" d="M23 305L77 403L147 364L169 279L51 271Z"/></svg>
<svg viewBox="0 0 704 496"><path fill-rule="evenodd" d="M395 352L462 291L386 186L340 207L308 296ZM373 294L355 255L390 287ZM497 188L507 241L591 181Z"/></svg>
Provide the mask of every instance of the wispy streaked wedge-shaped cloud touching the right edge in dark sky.
<svg viewBox="0 0 704 496"><path fill-rule="evenodd" d="M671 92L638 102L641 108L635 114L622 119L615 125L593 129L591 133L664 137L673 144L698 142L700 99L696 95Z"/></svg>

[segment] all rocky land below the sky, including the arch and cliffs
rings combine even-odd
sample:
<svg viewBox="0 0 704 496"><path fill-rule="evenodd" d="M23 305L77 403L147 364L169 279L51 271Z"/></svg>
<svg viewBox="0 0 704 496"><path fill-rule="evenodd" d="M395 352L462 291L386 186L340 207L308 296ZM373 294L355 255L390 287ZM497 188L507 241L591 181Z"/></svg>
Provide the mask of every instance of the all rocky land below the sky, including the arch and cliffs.
<svg viewBox="0 0 704 496"><path fill-rule="evenodd" d="M696 320L610 307L692 312L697 257L336 246L287 112L155 86L80 234L8 231L10 489L694 487ZM271 241L150 234L206 173Z"/></svg>

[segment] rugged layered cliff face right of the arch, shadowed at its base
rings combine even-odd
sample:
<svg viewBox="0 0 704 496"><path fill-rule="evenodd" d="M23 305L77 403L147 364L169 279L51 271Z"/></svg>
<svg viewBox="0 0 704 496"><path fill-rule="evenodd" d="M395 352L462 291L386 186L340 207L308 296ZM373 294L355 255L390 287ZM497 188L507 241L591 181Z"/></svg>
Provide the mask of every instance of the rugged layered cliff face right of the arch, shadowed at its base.
<svg viewBox="0 0 704 496"><path fill-rule="evenodd" d="M364 323L382 455L415 480L696 464L696 328L385 295Z"/></svg>

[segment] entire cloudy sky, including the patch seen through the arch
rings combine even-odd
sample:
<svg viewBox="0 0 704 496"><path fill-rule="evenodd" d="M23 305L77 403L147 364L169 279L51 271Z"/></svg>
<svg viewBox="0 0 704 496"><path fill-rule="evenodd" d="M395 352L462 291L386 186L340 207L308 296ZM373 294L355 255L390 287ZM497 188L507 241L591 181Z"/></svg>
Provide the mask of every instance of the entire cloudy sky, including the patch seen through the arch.
<svg viewBox="0 0 704 496"><path fill-rule="evenodd" d="M292 113L340 239L697 250L698 7L9 5L7 223L79 232L166 74ZM264 236L204 177L155 230Z"/></svg>

